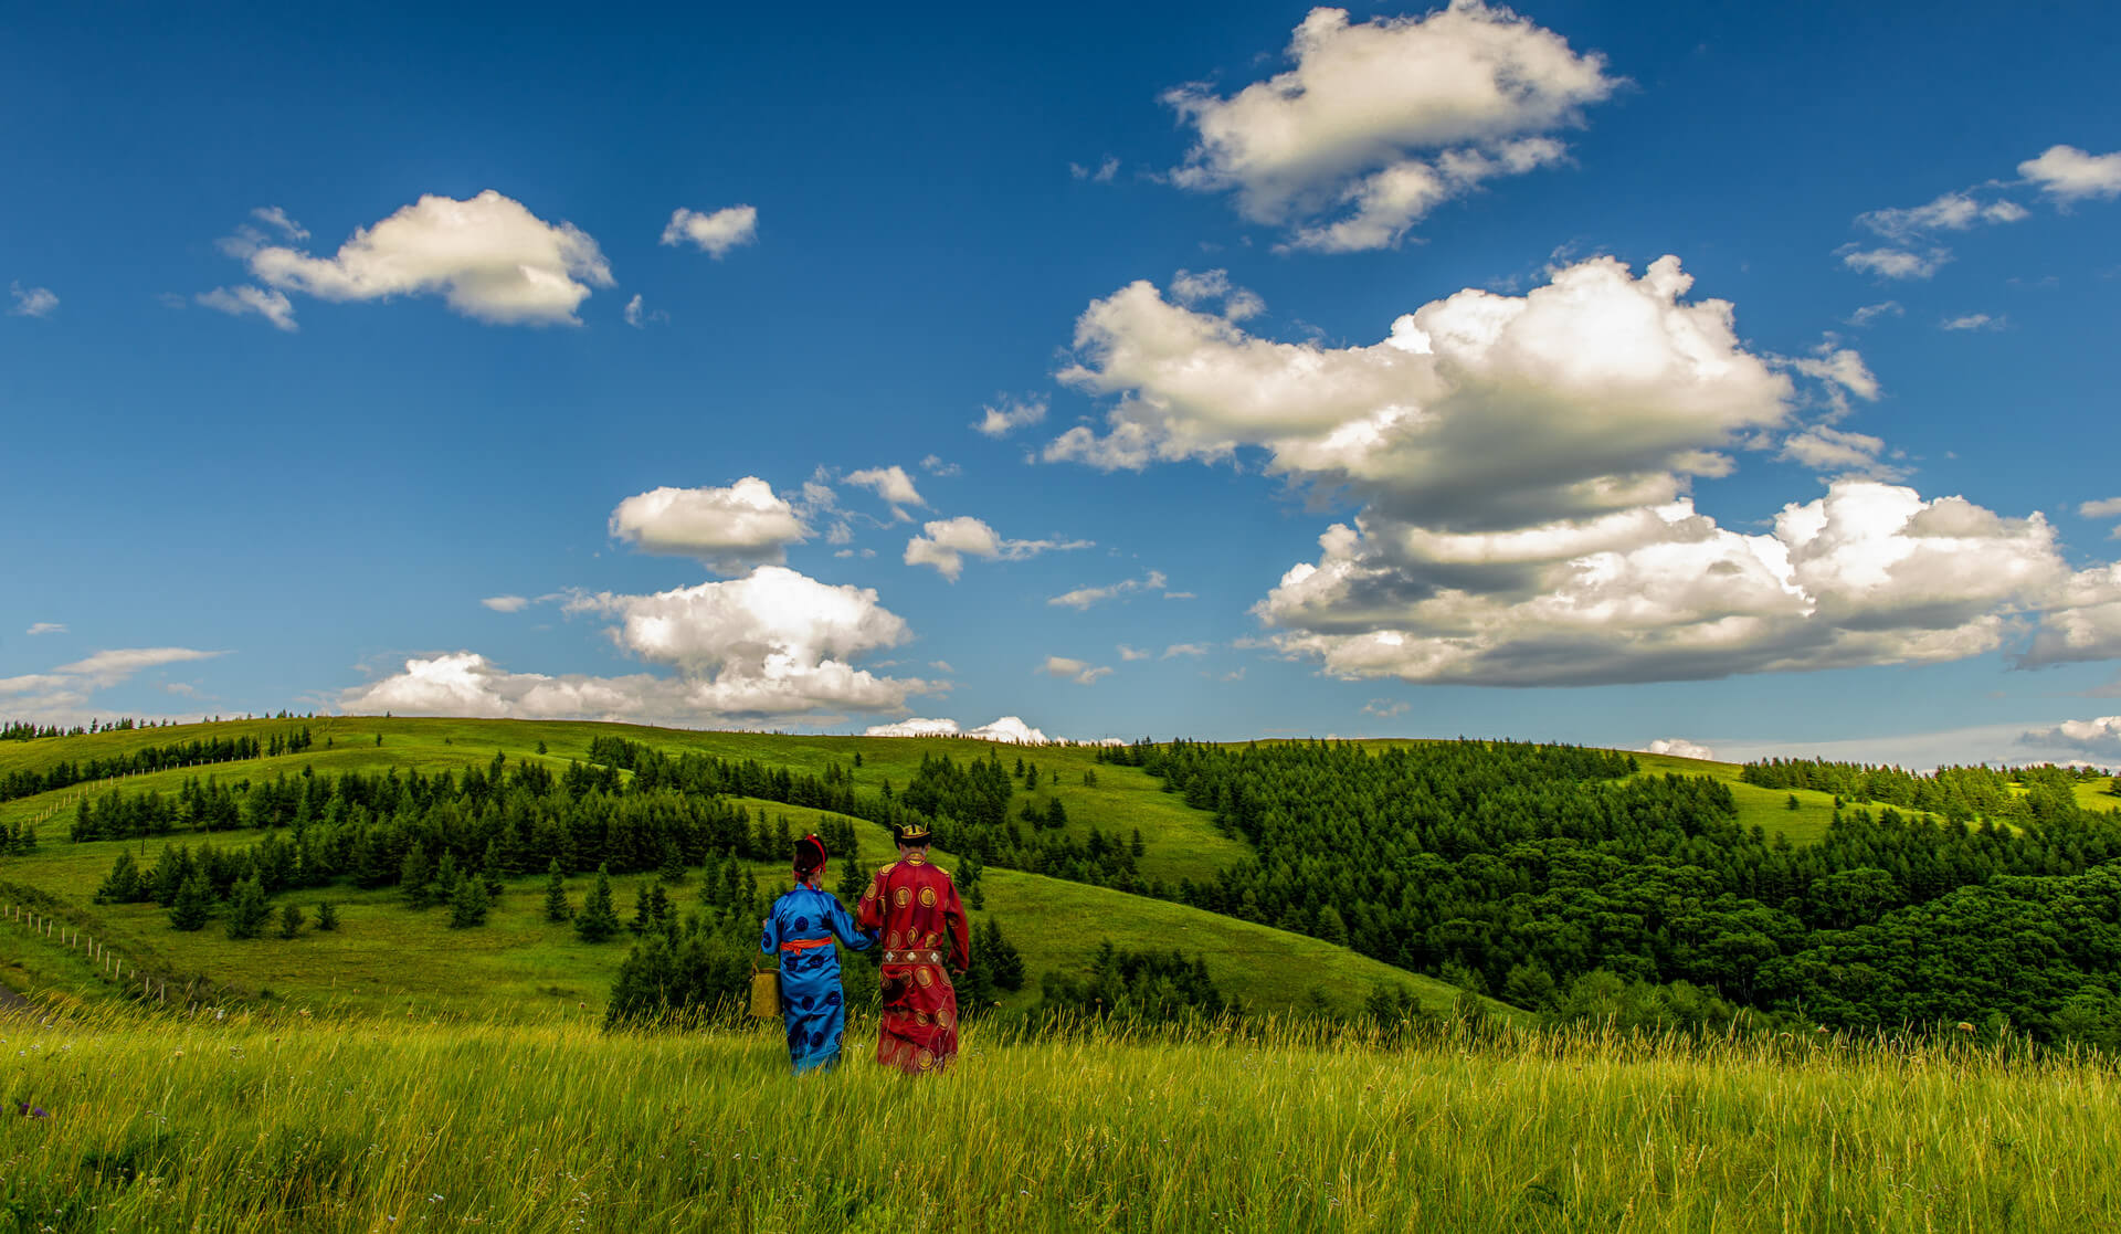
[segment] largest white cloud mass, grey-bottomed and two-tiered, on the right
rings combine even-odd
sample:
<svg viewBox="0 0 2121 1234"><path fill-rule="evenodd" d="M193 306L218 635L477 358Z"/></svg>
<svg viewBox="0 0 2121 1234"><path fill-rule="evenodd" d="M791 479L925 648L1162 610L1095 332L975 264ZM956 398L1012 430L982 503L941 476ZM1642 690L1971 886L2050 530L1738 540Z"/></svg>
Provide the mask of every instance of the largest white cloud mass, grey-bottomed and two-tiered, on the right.
<svg viewBox="0 0 2121 1234"><path fill-rule="evenodd" d="M1813 426L1786 458L1843 475L1773 530L1690 486L1767 447L1796 380L1875 396L1854 352L1750 354L1731 305L1686 303L1673 259L1610 259L1525 297L1466 290L1372 346L1277 343L1150 284L1097 301L1063 380L1114 394L1107 430L1050 458L1222 460L1353 500L1317 562L1254 613L1287 655L1349 678L1591 685L1936 662L2121 655L2121 572L2072 575L2038 513L1879 479L1875 437ZM2117 568L2121 570L2121 568Z"/></svg>

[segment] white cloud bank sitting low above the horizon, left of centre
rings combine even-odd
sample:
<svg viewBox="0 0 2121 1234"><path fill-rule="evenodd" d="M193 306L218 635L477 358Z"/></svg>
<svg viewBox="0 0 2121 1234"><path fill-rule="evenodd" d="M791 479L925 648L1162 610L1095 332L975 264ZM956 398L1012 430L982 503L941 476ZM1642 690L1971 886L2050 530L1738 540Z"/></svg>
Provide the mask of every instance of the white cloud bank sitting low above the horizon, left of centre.
<svg viewBox="0 0 2121 1234"><path fill-rule="evenodd" d="M910 638L876 592L781 566L651 596L577 594L566 611L613 617L613 642L674 674L545 676L458 651L407 659L401 672L344 691L339 706L363 715L744 725L823 708L897 710L908 695L933 689L851 664Z"/></svg>

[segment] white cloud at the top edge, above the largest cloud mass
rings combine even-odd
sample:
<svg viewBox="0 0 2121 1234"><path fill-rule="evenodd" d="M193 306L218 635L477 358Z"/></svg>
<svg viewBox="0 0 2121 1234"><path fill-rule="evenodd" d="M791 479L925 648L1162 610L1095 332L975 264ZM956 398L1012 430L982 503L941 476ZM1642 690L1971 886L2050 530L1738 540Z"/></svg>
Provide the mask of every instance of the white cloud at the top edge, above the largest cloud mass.
<svg viewBox="0 0 2121 1234"><path fill-rule="evenodd" d="M1599 55L1480 0L1360 25L1313 8L1287 53L1292 70L1230 98L1164 95L1198 138L1171 178L1234 191L1245 218L1328 252L1391 246L1438 204L1563 159L1548 134L1618 85Z"/></svg>

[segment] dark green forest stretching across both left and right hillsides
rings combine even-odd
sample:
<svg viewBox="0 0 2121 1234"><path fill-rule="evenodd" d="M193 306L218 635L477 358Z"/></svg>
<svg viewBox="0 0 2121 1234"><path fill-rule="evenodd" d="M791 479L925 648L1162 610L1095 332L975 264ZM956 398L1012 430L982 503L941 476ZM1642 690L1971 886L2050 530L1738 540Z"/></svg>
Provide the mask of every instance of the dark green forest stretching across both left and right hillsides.
<svg viewBox="0 0 2121 1234"><path fill-rule="evenodd" d="M732 801L747 797L829 812L823 831L842 859L842 895L865 878L851 859L853 821L918 818L954 854L974 907L986 867L1122 886L1349 946L1555 1020L1981 1022L2121 1047L2121 812L2079 806L2085 776L2074 770L1746 768L1754 785L1841 795L1826 833L1792 844L1741 827L1724 782L1646 776L1610 751L1101 751L1101 763L1141 768L1251 848L1211 880L1160 884L1137 871L1139 835L1069 821L1058 797L1014 810L1039 770L1022 757L1007 765L999 748L967 761L927 755L897 787L857 774L859 763L806 774L609 736L590 755L562 772L496 755L433 774L206 774L176 793L85 797L72 835L265 829L242 848L172 844L153 867L119 857L106 897L172 912L187 882L208 905L233 905L246 880L265 895L348 880L418 899L445 869L490 886L507 876L658 871L672 888L700 869L696 903L715 910L713 927L736 905L757 907L757 893L728 884L725 871L738 859L778 861L791 840L785 821ZM636 927L683 916L651 907L636 905ZM1054 975L1050 1001L1141 1003L1122 988L1128 973L1184 990L1184 956L1116 956L1103 990ZM1175 1001L1220 1005L1222 994Z"/></svg>

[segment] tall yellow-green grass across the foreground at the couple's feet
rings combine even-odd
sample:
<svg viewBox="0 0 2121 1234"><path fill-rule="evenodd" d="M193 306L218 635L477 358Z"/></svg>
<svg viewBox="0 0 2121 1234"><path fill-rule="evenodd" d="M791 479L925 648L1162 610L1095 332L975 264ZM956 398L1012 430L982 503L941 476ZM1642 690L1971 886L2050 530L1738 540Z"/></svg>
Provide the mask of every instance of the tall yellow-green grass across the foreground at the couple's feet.
<svg viewBox="0 0 2121 1234"><path fill-rule="evenodd" d="M2091 1230L2117 1073L2015 1045L1298 1024L848 1039L0 1022L21 1230ZM32 1103L49 1117L17 1113Z"/></svg>

